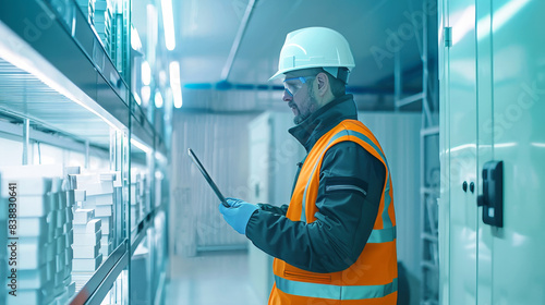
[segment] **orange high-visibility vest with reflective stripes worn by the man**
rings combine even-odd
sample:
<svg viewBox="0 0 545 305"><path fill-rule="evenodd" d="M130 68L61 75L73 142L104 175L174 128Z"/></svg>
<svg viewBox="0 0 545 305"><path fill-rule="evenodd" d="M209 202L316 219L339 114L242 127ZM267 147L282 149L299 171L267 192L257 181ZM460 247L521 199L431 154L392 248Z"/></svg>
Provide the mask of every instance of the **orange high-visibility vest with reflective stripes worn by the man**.
<svg viewBox="0 0 545 305"><path fill-rule="evenodd" d="M384 163L387 174L378 215L371 236L358 260L348 269L317 273L299 269L275 258L275 285L269 305L388 305L397 303L398 269L396 218L389 168L383 149L360 121L344 120L322 136L301 169L286 217L293 221L316 220L319 172L326 151L337 143L351 141Z"/></svg>

